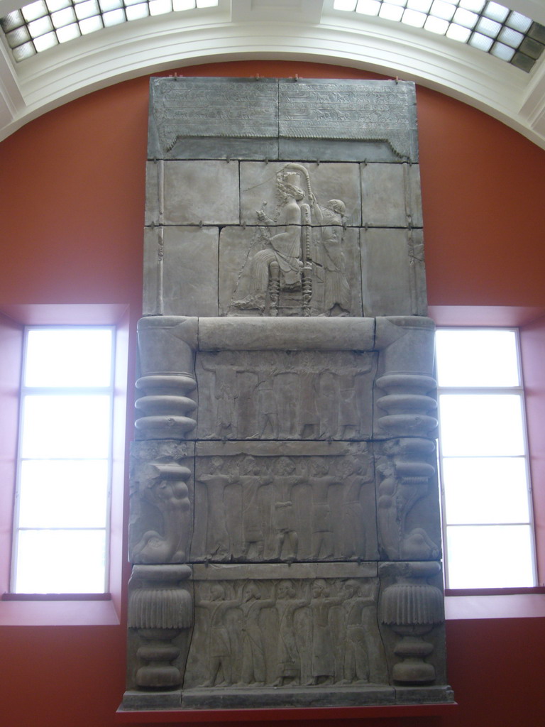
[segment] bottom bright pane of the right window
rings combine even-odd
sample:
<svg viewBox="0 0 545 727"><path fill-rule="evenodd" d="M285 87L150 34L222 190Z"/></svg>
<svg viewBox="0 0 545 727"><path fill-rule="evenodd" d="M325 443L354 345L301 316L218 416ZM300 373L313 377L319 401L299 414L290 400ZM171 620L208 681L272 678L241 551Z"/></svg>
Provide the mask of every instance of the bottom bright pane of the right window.
<svg viewBox="0 0 545 727"><path fill-rule="evenodd" d="M452 526L447 550L449 588L534 585L529 525Z"/></svg>

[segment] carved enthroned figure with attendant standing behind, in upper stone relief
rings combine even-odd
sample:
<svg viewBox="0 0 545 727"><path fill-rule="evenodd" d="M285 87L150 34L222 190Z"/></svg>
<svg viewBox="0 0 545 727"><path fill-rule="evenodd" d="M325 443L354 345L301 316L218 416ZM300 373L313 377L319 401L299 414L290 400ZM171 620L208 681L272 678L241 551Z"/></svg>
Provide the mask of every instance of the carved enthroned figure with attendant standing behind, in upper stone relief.
<svg viewBox="0 0 545 727"><path fill-rule="evenodd" d="M299 300L299 315L349 316L344 202L331 199L320 206L312 193L310 174L302 164L286 164L275 181L273 217L265 209L257 211L261 225L252 248L262 249L251 257L249 252L229 314L278 316L283 308L281 298L287 293Z"/></svg>

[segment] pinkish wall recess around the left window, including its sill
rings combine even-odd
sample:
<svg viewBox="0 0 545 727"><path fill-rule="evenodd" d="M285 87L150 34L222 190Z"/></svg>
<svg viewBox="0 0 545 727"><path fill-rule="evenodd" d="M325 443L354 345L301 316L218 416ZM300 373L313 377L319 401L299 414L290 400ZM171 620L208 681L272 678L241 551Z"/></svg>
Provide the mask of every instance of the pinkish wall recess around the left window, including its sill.
<svg viewBox="0 0 545 727"><path fill-rule="evenodd" d="M139 311L124 303L12 304L0 309L0 624L114 625L126 613L126 492L129 489L129 437L134 421L129 382L136 371ZM9 592L20 372L24 326L115 326L116 369L113 396L113 459L110 501L109 591L100 594L15 594Z"/></svg>

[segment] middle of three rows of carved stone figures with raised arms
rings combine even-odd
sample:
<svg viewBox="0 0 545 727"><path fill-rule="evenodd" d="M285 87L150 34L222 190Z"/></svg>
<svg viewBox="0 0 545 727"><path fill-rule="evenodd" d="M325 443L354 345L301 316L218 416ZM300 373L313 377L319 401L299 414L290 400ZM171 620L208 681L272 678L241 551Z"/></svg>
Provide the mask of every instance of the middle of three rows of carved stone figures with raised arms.
<svg viewBox="0 0 545 727"><path fill-rule="evenodd" d="M335 461L338 459L338 461ZM373 476L367 459L246 456L229 467L212 457L198 475L206 487L206 554L214 559L297 560L366 557L361 490ZM310 489L309 489L310 488ZM370 519L371 518L371 519ZM371 533L371 552L374 531Z"/></svg>

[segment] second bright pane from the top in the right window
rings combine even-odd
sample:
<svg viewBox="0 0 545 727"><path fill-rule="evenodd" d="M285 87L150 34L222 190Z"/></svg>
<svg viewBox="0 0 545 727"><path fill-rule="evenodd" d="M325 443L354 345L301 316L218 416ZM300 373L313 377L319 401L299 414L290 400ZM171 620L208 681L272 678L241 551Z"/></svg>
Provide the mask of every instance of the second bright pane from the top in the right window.
<svg viewBox="0 0 545 727"><path fill-rule="evenodd" d="M517 394L441 394L444 457L517 457L525 454Z"/></svg>

